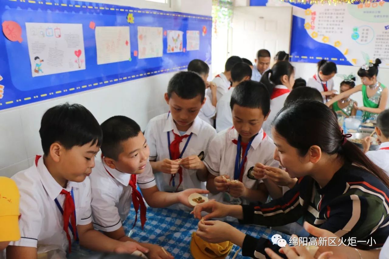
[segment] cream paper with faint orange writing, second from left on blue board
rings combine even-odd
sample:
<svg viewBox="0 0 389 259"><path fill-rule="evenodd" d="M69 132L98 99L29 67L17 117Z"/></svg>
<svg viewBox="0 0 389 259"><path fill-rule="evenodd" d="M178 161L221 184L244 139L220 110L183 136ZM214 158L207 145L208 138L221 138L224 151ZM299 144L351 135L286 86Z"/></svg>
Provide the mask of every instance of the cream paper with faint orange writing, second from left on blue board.
<svg viewBox="0 0 389 259"><path fill-rule="evenodd" d="M97 26L95 38L98 65L130 60L130 27Z"/></svg>

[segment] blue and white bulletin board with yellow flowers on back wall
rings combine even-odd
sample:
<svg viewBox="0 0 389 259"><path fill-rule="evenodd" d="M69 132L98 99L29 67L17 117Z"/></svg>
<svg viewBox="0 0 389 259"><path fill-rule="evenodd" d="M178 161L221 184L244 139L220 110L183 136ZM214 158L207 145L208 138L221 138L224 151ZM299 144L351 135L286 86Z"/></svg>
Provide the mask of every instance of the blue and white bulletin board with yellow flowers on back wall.
<svg viewBox="0 0 389 259"><path fill-rule="evenodd" d="M361 66L362 52L389 68L389 0L321 5L251 0L251 5L293 5L290 60Z"/></svg>

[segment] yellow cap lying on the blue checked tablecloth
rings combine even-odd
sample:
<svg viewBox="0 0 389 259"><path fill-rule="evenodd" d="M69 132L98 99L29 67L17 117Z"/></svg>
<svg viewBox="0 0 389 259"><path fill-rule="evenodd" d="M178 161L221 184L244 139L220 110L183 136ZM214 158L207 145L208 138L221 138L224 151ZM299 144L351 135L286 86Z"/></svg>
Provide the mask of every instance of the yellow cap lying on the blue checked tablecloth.
<svg viewBox="0 0 389 259"><path fill-rule="evenodd" d="M208 243L192 233L191 254L195 259L224 259L231 251L233 243L230 241L222 243Z"/></svg>

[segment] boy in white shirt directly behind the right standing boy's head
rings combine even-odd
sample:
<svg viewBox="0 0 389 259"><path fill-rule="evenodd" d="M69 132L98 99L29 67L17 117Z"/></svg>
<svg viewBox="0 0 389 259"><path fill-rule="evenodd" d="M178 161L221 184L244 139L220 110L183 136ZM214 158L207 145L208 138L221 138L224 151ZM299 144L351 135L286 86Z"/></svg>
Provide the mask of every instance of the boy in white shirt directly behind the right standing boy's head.
<svg viewBox="0 0 389 259"><path fill-rule="evenodd" d="M231 94L235 87L243 81L250 80L252 70L249 65L243 62L236 63L231 69L232 85L216 105L216 132L232 127Z"/></svg>

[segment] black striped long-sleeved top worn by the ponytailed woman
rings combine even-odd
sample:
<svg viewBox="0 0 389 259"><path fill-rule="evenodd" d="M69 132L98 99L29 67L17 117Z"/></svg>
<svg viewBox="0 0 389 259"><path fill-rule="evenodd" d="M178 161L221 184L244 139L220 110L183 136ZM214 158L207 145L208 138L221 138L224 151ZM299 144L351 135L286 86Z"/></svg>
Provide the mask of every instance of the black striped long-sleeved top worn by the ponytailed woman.
<svg viewBox="0 0 389 259"><path fill-rule="evenodd" d="M308 192L312 182L313 195L304 212L304 198L311 196ZM382 247L389 236L388 197L388 187L373 174L357 166L344 165L323 188L305 176L280 199L258 206L242 205L241 222L283 226L303 216L308 223L331 231L343 240L356 239L358 248L373 249ZM242 254L261 258L265 247L279 249L267 239L247 235Z"/></svg>

